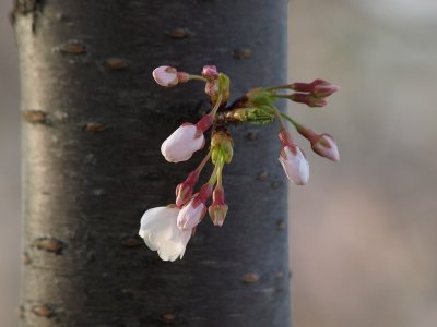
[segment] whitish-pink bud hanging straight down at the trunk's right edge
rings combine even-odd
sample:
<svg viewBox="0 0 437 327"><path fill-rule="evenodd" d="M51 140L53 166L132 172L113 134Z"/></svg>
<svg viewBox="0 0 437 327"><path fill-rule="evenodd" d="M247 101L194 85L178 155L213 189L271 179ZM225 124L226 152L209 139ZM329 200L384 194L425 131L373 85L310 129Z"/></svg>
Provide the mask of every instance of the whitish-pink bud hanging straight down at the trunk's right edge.
<svg viewBox="0 0 437 327"><path fill-rule="evenodd" d="M309 180L309 165L300 148L294 144L286 145L279 158L290 181L305 185Z"/></svg>

